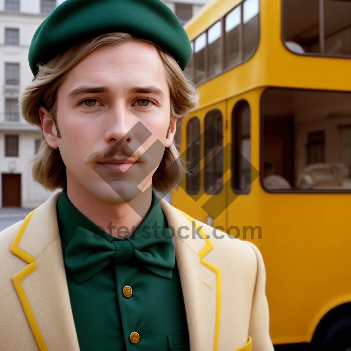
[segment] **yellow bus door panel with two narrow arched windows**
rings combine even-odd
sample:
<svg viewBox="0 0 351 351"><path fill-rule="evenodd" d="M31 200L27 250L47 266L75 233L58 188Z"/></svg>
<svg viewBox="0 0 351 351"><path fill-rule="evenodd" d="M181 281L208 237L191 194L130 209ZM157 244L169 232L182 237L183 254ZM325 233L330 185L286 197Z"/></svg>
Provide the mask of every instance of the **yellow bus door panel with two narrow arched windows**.
<svg viewBox="0 0 351 351"><path fill-rule="evenodd" d="M195 219L210 225L225 223L226 123L225 102L190 114L182 123L185 150L181 155L188 162L181 186L184 202L181 208ZM229 177L228 177L229 178ZM178 200L179 201L179 200ZM177 207L177 203L172 203ZM180 205L180 204L179 204Z"/></svg>

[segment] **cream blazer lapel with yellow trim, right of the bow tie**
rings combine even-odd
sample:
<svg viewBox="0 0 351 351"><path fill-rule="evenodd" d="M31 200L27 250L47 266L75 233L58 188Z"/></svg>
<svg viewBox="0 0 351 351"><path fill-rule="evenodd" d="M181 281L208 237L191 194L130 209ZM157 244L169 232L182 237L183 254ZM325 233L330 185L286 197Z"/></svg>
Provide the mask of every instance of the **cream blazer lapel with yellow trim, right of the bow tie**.
<svg viewBox="0 0 351 351"><path fill-rule="evenodd" d="M190 349L217 351L221 275L219 268L206 260L213 244L205 232L198 229L200 223L165 200L161 200L160 205L168 226L174 229L174 250L183 290Z"/></svg>

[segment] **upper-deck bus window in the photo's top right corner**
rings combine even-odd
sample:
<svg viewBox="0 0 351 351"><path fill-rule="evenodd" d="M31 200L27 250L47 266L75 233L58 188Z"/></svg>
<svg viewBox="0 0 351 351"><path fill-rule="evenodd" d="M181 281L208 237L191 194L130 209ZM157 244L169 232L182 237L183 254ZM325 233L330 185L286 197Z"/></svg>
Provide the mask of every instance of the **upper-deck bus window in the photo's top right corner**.
<svg viewBox="0 0 351 351"><path fill-rule="evenodd" d="M286 47L298 54L351 54L351 2L283 0Z"/></svg>

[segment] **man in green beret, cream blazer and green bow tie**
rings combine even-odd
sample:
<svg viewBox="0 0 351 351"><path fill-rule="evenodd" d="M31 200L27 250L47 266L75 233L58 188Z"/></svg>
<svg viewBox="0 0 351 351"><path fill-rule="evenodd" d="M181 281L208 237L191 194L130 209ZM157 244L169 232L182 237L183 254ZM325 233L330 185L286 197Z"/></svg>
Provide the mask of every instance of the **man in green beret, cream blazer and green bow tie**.
<svg viewBox="0 0 351 351"><path fill-rule="evenodd" d="M197 103L186 32L159 0L67 0L34 35L33 176L63 189L0 234L0 350L273 350L257 248L167 192Z"/></svg>

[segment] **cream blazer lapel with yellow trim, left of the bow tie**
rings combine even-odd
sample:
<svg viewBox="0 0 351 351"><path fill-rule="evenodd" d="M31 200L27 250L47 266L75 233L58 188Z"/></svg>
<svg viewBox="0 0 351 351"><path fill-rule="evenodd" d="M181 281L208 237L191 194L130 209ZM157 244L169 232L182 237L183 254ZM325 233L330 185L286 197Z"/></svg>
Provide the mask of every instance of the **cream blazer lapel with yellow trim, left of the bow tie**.
<svg viewBox="0 0 351 351"><path fill-rule="evenodd" d="M23 221L10 250L28 266L12 281L39 350L79 351L57 224L59 195Z"/></svg>

